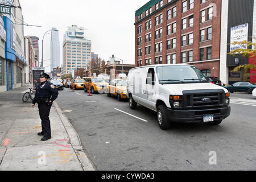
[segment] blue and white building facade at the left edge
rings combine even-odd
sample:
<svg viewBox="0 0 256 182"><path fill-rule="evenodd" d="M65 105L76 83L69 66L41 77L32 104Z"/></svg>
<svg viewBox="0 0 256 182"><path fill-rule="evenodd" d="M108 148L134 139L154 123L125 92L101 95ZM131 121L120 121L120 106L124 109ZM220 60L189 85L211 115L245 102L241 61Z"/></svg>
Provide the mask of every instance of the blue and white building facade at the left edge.
<svg viewBox="0 0 256 182"><path fill-rule="evenodd" d="M22 9L19 0L10 0L6 5L16 7L11 7L10 15L1 14L0 18L0 92L19 88L26 82Z"/></svg>

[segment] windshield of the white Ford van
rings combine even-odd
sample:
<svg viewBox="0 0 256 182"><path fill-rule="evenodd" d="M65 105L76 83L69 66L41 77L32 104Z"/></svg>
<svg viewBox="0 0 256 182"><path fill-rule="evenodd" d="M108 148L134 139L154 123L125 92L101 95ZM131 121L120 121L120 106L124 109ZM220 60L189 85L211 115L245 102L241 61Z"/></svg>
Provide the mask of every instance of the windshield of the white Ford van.
<svg viewBox="0 0 256 182"><path fill-rule="evenodd" d="M184 84L208 82L203 73L194 66L172 65L156 67L159 84Z"/></svg>

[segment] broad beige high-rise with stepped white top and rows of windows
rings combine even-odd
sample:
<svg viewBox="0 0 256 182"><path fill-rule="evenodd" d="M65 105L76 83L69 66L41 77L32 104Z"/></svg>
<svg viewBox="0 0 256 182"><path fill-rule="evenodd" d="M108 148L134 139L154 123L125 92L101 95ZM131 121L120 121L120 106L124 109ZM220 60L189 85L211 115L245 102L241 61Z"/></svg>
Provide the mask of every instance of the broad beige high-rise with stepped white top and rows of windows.
<svg viewBox="0 0 256 182"><path fill-rule="evenodd" d="M72 25L68 27L63 41L63 73L87 68L91 61L92 42L85 38L84 28Z"/></svg>

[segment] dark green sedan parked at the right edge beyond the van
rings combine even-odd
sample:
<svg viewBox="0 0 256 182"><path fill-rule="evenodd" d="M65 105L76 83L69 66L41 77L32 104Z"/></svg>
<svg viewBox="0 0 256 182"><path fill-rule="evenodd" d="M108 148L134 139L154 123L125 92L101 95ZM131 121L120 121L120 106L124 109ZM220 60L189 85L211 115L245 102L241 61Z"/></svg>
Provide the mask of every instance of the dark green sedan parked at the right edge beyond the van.
<svg viewBox="0 0 256 182"><path fill-rule="evenodd" d="M236 82L229 86L224 86L224 88L228 89L229 92L246 92L247 94L253 93L253 90L256 88L256 84L253 82Z"/></svg>

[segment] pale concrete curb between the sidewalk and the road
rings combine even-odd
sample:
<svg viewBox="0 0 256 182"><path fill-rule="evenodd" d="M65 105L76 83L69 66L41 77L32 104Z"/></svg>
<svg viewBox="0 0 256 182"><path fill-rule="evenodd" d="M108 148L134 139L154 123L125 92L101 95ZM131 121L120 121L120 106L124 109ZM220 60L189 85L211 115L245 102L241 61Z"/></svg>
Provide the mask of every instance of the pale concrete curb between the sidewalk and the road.
<svg viewBox="0 0 256 182"><path fill-rule="evenodd" d="M73 128L68 118L63 113L63 111L61 111L56 101L53 102L53 106L55 107L57 114L59 114L60 116L60 120L63 123L63 126L68 134L68 138L71 142L73 150L77 154L77 159L79 159L82 169L84 171L96 171L96 167L94 166L92 161L88 158L88 155L86 154L84 148L82 148L82 144L81 144L79 135L76 133L76 130Z"/></svg>

